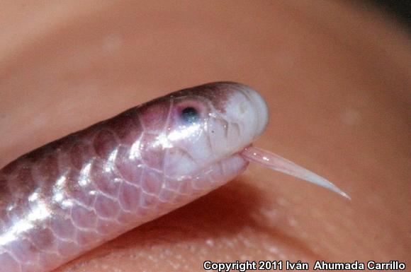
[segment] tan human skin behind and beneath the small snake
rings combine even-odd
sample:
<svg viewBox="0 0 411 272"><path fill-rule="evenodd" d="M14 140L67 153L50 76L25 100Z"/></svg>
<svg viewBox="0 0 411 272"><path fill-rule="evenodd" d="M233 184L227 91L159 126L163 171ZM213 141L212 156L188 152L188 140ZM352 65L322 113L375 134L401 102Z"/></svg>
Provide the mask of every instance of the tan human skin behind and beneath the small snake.
<svg viewBox="0 0 411 272"><path fill-rule="evenodd" d="M410 39L342 1L0 4L0 165L172 90L238 81L271 120L255 146L346 191L251 165L198 201L57 269L203 261L410 265ZM68 2L67 2L68 3Z"/></svg>

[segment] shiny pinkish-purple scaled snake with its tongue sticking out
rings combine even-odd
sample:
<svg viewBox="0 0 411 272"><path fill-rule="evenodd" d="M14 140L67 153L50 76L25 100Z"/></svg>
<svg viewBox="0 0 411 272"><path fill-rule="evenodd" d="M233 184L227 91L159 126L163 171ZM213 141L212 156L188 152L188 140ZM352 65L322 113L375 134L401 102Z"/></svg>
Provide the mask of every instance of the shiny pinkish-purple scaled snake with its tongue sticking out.
<svg viewBox="0 0 411 272"><path fill-rule="evenodd" d="M159 97L33 150L0 170L0 271L46 272L220 187L249 162L347 196L254 148L269 120L240 83Z"/></svg>

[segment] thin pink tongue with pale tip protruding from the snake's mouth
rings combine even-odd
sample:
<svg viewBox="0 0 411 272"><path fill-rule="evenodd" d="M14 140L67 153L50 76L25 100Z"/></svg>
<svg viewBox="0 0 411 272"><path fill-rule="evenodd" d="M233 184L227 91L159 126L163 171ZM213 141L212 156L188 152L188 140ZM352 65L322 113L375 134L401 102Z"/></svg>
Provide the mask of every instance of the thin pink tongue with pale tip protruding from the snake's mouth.
<svg viewBox="0 0 411 272"><path fill-rule="evenodd" d="M344 191L329 182L327 179L296 165L294 162L281 158L274 153L262 150L260 148L255 148L254 146L249 146L242 150L241 155L250 162L256 162L258 165L269 167L272 170L283 172L293 177L298 177L299 179L304 179L307 182L320 185L321 187L334 191L347 199L351 199L348 194L344 193Z"/></svg>

